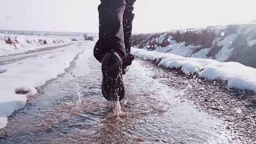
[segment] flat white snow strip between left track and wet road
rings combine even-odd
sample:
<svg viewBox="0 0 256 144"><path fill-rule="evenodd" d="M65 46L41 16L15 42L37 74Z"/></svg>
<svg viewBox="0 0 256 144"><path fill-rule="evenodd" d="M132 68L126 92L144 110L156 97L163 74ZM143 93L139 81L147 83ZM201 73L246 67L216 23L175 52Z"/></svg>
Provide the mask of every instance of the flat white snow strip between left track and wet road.
<svg viewBox="0 0 256 144"><path fill-rule="evenodd" d="M87 48L86 45L72 44L51 53L0 66L0 128L6 126L12 112L26 105L27 95L15 94L17 90L29 91L28 95L36 94L35 87L64 73L74 57Z"/></svg>

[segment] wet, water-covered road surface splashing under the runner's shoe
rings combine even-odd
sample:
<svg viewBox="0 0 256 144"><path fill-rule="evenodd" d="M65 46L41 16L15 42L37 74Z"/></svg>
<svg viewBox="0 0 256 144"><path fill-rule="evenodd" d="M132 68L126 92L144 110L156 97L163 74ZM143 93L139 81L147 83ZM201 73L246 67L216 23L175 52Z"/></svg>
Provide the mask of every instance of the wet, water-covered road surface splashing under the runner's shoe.
<svg viewBox="0 0 256 144"><path fill-rule="evenodd" d="M80 45L81 46L81 45ZM180 102L135 60L124 75L121 111L110 108L100 89L100 64L92 48L78 55L65 74L38 88L26 107L1 130L1 144L233 144L219 120Z"/></svg>

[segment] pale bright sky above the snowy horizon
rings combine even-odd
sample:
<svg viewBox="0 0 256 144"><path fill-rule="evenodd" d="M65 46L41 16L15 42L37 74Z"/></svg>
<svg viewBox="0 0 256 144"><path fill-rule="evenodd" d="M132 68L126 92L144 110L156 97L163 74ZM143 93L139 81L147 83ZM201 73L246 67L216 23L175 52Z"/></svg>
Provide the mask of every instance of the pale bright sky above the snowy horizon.
<svg viewBox="0 0 256 144"><path fill-rule="evenodd" d="M254 0L137 0L134 33L255 20ZM0 29L98 32L100 0L2 0Z"/></svg>

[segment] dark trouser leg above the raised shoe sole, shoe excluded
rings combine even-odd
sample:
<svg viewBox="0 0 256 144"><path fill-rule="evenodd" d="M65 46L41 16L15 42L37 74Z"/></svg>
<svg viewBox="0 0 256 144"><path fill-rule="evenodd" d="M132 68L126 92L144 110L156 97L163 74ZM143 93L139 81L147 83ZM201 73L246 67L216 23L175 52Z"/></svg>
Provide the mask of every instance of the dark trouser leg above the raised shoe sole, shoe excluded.
<svg viewBox="0 0 256 144"><path fill-rule="evenodd" d="M94 46L94 57L102 62L104 54L114 49L122 60L126 60L124 44L123 14L125 0L100 0L99 39Z"/></svg>

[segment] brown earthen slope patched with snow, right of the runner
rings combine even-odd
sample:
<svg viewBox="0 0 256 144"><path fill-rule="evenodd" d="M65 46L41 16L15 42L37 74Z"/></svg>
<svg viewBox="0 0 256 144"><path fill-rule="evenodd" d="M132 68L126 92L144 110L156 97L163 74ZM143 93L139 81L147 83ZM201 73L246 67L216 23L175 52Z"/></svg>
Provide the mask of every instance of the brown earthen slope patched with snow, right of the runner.
<svg viewBox="0 0 256 144"><path fill-rule="evenodd" d="M132 45L148 51L184 57L207 58L219 62L241 62L256 68L253 60L255 57L253 48L256 46L255 31L256 23L241 23L152 34L133 34ZM246 51L240 52L242 47ZM243 56L247 57L246 60Z"/></svg>

